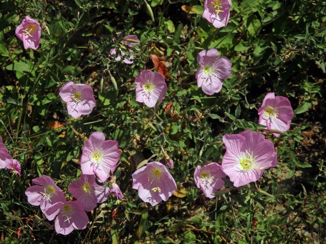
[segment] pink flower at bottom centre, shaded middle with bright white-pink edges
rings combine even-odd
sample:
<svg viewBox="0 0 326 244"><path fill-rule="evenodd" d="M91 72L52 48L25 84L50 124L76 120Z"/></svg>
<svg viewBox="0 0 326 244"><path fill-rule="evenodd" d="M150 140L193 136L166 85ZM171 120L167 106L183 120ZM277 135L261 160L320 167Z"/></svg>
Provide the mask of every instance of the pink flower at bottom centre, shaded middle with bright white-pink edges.
<svg viewBox="0 0 326 244"><path fill-rule="evenodd" d="M159 162L150 162L132 174L132 188L139 197L152 206L167 201L177 190L177 185L167 168Z"/></svg>

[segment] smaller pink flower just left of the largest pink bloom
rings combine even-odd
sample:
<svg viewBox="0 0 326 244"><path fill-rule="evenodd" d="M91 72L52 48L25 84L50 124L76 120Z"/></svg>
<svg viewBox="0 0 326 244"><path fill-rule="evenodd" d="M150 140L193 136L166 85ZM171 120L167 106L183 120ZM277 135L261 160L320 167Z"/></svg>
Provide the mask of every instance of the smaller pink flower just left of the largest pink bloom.
<svg viewBox="0 0 326 244"><path fill-rule="evenodd" d="M203 167L197 166L194 174L196 186L204 192L205 197L214 198L213 193L224 186L224 178L221 166L217 163L209 163Z"/></svg>

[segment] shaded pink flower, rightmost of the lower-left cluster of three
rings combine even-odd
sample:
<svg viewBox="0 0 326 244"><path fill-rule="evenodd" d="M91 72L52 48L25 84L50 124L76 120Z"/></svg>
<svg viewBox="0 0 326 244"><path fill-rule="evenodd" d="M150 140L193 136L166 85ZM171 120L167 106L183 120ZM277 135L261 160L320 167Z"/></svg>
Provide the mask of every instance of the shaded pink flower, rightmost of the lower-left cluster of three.
<svg viewBox="0 0 326 244"><path fill-rule="evenodd" d="M95 175L82 174L68 189L71 195L83 204L85 211L94 209L97 203L104 202L108 195L107 188L97 185Z"/></svg>

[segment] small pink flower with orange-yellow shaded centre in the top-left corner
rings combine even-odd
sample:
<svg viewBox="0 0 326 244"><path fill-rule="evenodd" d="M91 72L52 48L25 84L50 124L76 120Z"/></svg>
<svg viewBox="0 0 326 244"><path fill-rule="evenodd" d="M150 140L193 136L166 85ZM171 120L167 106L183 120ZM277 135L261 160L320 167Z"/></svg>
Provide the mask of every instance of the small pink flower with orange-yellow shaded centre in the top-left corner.
<svg viewBox="0 0 326 244"><path fill-rule="evenodd" d="M26 16L21 24L16 27L16 36L22 41L25 49L38 49L41 38L40 23Z"/></svg>

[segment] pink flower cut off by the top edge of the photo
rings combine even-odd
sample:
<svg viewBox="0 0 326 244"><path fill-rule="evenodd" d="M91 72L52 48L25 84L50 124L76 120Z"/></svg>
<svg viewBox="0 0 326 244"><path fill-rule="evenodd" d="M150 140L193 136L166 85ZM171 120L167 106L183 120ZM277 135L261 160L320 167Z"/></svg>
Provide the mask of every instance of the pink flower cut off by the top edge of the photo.
<svg viewBox="0 0 326 244"><path fill-rule="evenodd" d="M216 28L228 24L230 18L230 0L205 0L203 17Z"/></svg>

